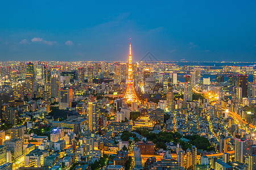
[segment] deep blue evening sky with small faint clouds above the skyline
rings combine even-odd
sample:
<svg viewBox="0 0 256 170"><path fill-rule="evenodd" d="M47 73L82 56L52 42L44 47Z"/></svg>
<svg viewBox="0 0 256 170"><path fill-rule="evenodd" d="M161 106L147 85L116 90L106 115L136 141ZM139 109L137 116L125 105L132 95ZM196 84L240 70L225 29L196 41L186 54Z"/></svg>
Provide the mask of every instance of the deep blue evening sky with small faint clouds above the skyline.
<svg viewBox="0 0 256 170"><path fill-rule="evenodd" d="M256 1L1 1L0 61L255 61Z"/></svg>

